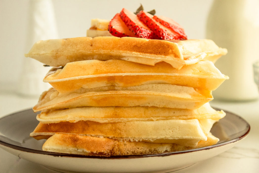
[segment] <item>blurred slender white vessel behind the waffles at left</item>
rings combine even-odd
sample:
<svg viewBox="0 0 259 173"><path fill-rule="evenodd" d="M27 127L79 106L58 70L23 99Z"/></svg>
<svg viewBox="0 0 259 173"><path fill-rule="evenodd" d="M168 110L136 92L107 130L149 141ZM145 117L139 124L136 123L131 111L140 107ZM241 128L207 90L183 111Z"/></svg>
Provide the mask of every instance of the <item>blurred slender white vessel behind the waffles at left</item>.
<svg viewBox="0 0 259 173"><path fill-rule="evenodd" d="M27 37L24 53L28 53L33 44L39 40L58 38L54 8L51 0L30 0L27 24ZM23 96L39 95L51 87L42 80L49 67L32 58L23 58L22 71L19 77L17 91Z"/></svg>

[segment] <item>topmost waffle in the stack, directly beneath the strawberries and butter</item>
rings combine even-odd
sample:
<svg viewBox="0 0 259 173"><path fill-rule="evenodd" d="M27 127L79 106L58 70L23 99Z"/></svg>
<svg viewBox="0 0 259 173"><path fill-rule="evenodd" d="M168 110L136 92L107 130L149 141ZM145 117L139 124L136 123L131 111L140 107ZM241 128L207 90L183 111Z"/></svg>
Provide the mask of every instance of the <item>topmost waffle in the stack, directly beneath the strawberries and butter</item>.
<svg viewBox="0 0 259 173"><path fill-rule="evenodd" d="M140 64L166 62L176 69L200 60L215 61L227 53L212 40L149 40L134 37L77 37L38 41L26 57L49 66L82 60L122 59Z"/></svg>

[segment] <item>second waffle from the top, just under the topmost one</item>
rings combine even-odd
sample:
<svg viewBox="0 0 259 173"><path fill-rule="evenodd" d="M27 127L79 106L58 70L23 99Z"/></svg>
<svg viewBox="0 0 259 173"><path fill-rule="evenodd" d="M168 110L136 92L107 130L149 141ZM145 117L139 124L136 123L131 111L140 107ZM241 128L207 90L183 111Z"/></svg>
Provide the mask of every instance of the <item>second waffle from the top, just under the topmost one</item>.
<svg viewBox="0 0 259 173"><path fill-rule="evenodd" d="M228 79L211 61L199 61L181 70L161 62L155 66L124 60L85 60L53 68L44 78L60 93L103 86L136 86L142 84L173 84L209 91Z"/></svg>

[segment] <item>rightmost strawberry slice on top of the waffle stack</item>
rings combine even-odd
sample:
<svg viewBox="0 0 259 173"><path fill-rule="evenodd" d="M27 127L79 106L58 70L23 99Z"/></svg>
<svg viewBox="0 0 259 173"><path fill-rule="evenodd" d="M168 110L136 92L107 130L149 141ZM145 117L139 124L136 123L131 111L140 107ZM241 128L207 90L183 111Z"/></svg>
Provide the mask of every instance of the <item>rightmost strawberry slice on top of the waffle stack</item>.
<svg viewBox="0 0 259 173"><path fill-rule="evenodd" d="M179 25L177 22L175 22L173 19L169 18L169 17L164 17L164 16L154 16L153 17L157 22L159 22L160 24L162 24L163 26L171 29L172 31L174 31L175 33L179 34L179 36L182 39L187 39L187 36L184 32L184 29L181 25Z"/></svg>

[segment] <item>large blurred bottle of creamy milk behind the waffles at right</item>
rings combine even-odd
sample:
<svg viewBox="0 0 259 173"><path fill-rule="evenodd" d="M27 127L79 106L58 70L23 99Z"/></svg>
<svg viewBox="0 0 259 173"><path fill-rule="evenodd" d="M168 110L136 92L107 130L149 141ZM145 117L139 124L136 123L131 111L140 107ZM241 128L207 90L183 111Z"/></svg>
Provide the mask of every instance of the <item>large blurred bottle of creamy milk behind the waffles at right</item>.
<svg viewBox="0 0 259 173"><path fill-rule="evenodd" d="M229 80L213 91L214 99L258 98L252 64L259 59L259 1L214 0L207 19L206 38L228 50L215 66Z"/></svg>

